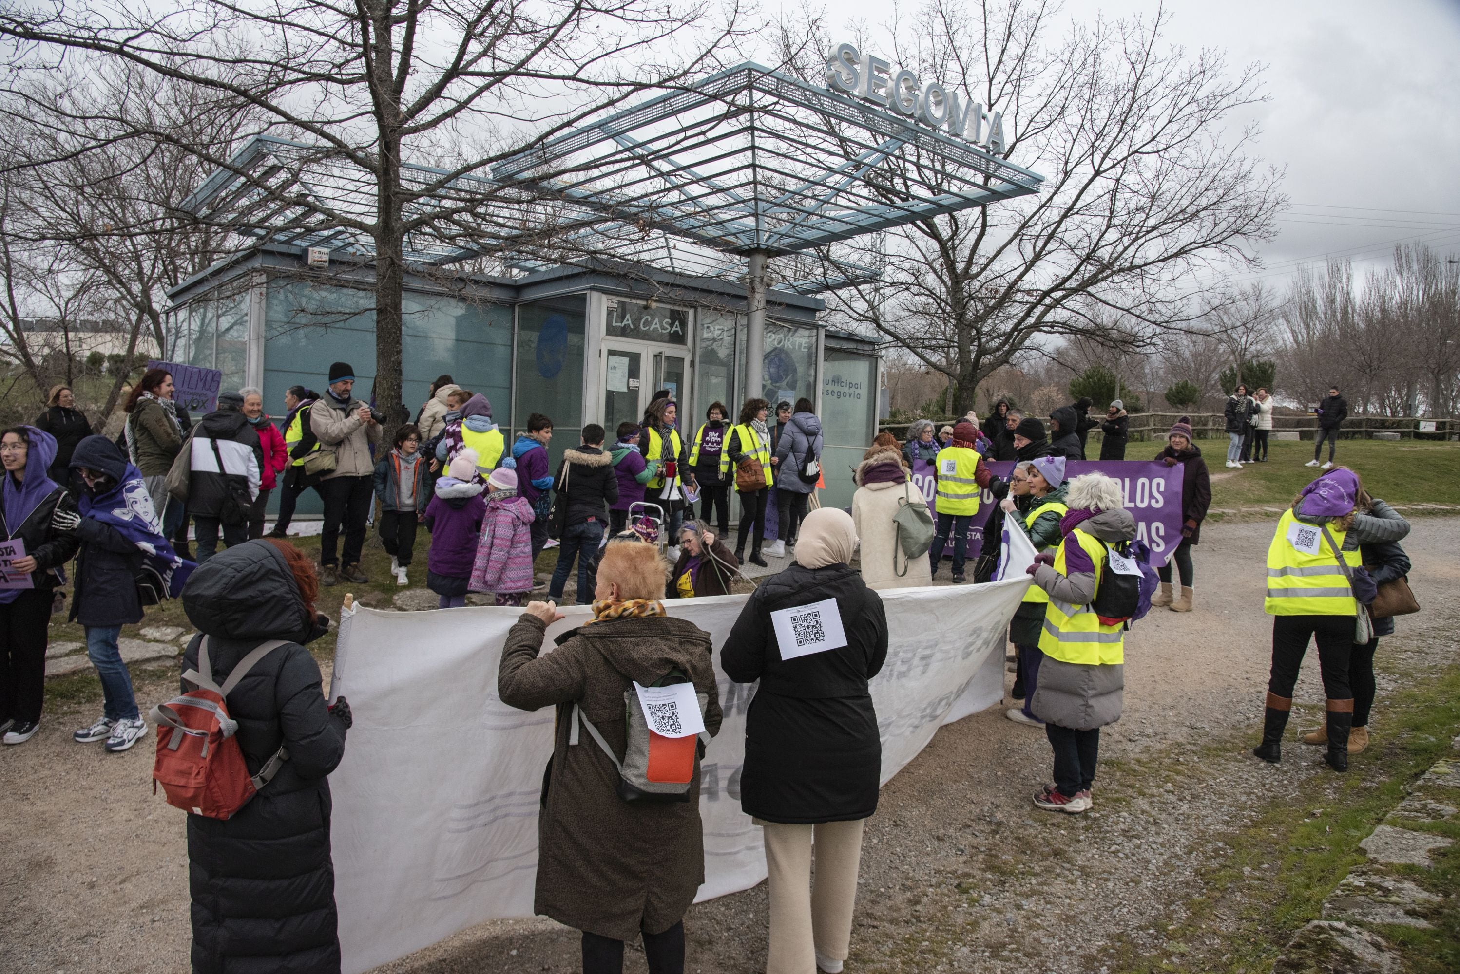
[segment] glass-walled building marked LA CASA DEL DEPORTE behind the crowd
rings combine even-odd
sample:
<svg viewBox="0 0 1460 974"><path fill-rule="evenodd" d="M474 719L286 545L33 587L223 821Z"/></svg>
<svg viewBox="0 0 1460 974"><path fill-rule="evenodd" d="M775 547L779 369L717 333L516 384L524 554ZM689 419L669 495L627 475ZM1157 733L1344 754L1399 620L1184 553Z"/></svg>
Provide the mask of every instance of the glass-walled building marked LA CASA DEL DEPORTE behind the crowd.
<svg viewBox="0 0 1460 974"><path fill-rule="evenodd" d="M331 362L350 363L356 395L369 397L374 273L358 262L310 267L307 257L263 244L172 289L172 359L219 369L223 389L261 388L274 417L289 386L323 391ZM851 468L876 436L879 359L873 343L822 325L823 308L819 297L769 290L764 385L748 391L739 283L642 268L632 277L574 267L510 280L407 276L403 398L415 417L431 382L450 375L492 402L508 440L545 413L558 430L556 465L581 426L600 423L612 437L644 414L656 389L680 402L686 437L711 402L733 421L752 395L772 404L806 397L825 430L822 504L847 507ZM314 491L299 503L304 515L318 510Z"/></svg>

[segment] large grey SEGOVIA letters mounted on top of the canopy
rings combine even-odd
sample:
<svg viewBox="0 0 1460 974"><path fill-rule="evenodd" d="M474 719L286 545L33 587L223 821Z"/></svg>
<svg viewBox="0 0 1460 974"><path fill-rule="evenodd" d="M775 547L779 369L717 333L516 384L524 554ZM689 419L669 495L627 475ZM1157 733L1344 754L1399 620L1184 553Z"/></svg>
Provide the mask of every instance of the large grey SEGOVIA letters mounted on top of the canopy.
<svg viewBox="0 0 1460 974"><path fill-rule="evenodd" d="M978 102L965 102L937 82L924 85L907 69L892 66L873 54L863 54L851 44L838 44L826 60L826 87L856 95L864 102L889 108L933 128L948 128L959 139L1002 156L1009 144L1003 134L1003 115L993 117Z"/></svg>

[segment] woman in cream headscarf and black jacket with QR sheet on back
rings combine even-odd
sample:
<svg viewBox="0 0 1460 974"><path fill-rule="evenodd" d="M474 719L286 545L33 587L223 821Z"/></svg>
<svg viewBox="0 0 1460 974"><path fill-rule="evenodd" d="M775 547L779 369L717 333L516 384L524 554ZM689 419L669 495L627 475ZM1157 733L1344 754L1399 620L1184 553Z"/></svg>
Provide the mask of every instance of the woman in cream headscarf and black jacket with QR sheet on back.
<svg viewBox="0 0 1460 974"><path fill-rule="evenodd" d="M720 653L730 679L761 681L740 808L765 828L766 974L837 974L851 948L861 831L882 773L867 681L888 656L882 599L847 564L856 545L844 510L809 513L794 563L750 595Z"/></svg>

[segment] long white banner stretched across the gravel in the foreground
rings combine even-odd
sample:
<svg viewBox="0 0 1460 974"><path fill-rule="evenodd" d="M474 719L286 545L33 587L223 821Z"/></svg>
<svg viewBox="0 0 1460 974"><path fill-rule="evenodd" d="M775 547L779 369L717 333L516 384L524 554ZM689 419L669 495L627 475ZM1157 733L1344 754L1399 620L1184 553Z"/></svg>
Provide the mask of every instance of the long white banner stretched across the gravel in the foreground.
<svg viewBox="0 0 1460 974"><path fill-rule="evenodd" d="M1009 620L1028 577L882 593L891 644L872 681L886 783L950 723L1003 698ZM711 633L724 723L702 764L705 884L698 900L765 878L761 830L740 811L745 713L753 687L718 668L748 596L667 602ZM581 626L566 607L545 646ZM330 776L334 897L345 971L404 957L492 919L533 914L537 799L552 755L553 709L524 713L496 696L517 608L381 612L340 623L330 698L355 726ZM616 799L609 799L616 800Z"/></svg>

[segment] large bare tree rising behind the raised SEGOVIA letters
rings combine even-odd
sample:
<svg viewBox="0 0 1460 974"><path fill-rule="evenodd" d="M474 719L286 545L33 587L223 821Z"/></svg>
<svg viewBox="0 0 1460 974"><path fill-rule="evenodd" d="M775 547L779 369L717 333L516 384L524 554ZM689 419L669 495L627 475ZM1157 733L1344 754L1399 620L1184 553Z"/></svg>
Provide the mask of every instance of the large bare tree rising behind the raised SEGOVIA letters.
<svg viewBox="0 0 1460 974"><path fill-rule="evenodd" d="M930 0L915 29L892 25L898 64L1000 112L1007 159L1045 176L1037 197L889 233L888 280L832 299L956 382L959 411L1031 346L1143 348L1188 324L1193 271L1250 264L1283 203L1279 174L1248 155L1254 130L1225 131L1261 99L1256 67L1169 50L1164 12L1060 39L1056 13L1045 0ZM912 174L936 176L923 162L905 162L889 201Z"/></svg>

